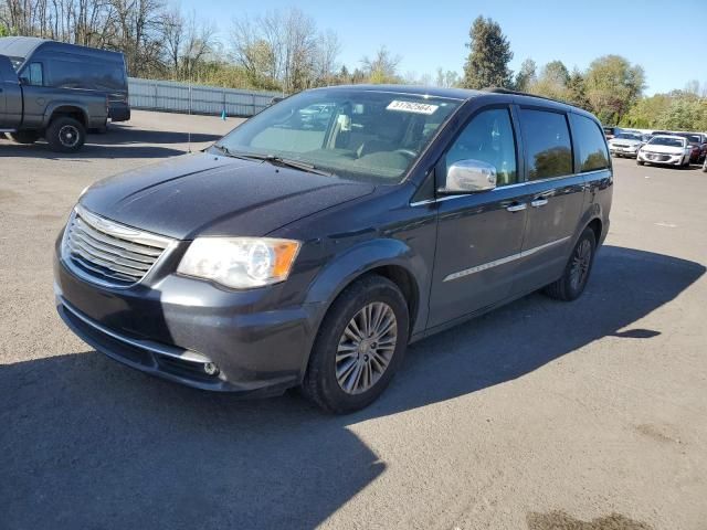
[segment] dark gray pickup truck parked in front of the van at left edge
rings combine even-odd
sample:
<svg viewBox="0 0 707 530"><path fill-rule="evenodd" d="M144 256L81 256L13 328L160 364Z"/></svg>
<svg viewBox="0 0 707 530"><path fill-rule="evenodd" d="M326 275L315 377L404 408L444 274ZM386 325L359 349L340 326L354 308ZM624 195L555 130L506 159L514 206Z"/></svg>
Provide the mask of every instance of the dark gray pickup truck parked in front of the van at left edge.
<svg viewBox="0 0 707 530"><path fill-rule="evenodd" d="M84 145L86 129L106 126L105 95L44 86L42 72L28 74L18 77L10 57L0 55L0 134L18 144L43 137L52 150L73 152Z"/></svg>

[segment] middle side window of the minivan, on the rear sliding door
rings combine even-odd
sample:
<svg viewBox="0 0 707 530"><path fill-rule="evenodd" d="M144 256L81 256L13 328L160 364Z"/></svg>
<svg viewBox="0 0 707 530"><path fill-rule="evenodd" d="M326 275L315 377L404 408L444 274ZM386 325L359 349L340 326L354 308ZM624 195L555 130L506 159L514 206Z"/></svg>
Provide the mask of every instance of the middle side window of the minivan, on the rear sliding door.
<svg viewBox="0 0 707 530"><path fill-rule="evenodd" d="M563 114L523 108L520 130L528 156L528 180L572 173L572 144Z"/></svg>

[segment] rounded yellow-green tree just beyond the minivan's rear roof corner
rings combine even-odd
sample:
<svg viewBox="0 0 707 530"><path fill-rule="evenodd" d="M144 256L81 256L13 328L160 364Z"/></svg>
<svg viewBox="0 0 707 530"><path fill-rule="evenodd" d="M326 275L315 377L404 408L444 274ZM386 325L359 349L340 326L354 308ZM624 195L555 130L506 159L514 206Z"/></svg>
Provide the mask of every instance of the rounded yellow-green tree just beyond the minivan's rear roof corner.
<svg viewBox="0 0 707 530"><path fill-rule="evenodd" d="M620 55L604 55L590 64L584 86L594 114L614 125L643 94L645 74Z"/></svg>

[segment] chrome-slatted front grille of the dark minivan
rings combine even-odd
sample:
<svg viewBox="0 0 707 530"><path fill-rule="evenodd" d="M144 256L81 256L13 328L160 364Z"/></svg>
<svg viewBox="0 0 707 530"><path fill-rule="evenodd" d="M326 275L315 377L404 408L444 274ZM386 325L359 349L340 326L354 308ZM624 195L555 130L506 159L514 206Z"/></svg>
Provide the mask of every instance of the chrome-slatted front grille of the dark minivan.
<svg viewBox="0 0 707 530"><path fill-rule="evenodd" d="M171 243L77 205L64 232L62 257L88 280L127 287L140 282Z"/></svg>

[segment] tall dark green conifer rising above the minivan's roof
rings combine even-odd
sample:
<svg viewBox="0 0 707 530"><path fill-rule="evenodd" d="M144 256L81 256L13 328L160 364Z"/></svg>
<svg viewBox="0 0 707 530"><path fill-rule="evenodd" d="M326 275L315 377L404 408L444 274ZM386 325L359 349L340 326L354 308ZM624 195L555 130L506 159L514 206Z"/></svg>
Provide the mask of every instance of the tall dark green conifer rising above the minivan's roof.
<svg viewBox="0 0 707 530"><path fill-rule="evenodd" d="M464 64L466 88L513 85L513 72L508 68L513 52L497 22L478 17L472 24L466 46L469 49Z"/></svg>

